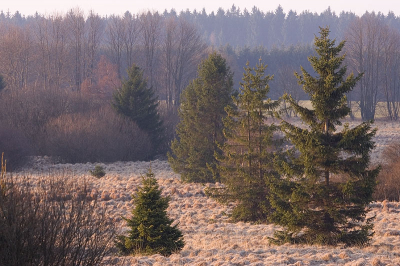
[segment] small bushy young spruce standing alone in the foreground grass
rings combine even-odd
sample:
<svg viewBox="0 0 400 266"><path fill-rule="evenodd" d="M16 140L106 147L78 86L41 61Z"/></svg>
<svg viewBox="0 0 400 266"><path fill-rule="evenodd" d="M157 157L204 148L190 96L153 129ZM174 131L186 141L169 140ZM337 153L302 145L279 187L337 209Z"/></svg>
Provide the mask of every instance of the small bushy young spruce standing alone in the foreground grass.
<svg viewBox="0 0 400 266"><path fill-rule="evenodd" d="M167 216L169 197L162 190L151 169L143 177L142 187L133 196L135 208L132 218L124 218L130 230L128 236L119 235L116 247L124 254L161 254L169 256L184 247L182 232Z"/></svg>

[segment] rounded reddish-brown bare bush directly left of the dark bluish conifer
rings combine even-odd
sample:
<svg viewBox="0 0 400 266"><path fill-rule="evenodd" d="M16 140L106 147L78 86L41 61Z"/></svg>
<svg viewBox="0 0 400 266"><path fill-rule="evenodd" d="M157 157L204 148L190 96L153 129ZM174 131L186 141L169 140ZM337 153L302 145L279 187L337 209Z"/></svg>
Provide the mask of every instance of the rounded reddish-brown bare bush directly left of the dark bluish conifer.
<svg viewBox="0 0 400 266"><path fill-rule="evenodd" d="M47 154L70 163L145 160L151 151L147 134L109 107L62 115L45 131Z"/></svg>

